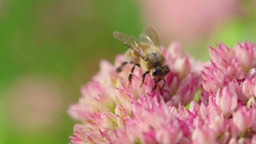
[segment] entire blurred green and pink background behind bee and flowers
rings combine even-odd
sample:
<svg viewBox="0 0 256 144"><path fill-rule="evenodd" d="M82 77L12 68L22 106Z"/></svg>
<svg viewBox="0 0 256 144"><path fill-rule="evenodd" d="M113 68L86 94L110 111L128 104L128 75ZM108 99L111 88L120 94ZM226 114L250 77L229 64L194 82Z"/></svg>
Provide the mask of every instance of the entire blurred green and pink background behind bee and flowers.
<svg viewBox="0 0 256 144"><path fill-rule="evenodd" d="M253 0L0 0L0 144L67 144L80 86L126 50L113 31L154 26L198 60L223 40L255 42Z"/></svg>

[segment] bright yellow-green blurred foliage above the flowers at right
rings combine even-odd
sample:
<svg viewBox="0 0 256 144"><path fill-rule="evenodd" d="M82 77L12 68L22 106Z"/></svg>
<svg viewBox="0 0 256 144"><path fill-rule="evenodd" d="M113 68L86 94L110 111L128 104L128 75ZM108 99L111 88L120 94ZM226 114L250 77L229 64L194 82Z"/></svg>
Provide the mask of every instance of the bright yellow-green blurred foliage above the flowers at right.
<svg viewBox="0 0 256 144"><path fill-rule="evenodd" d="M231 48L234 48L237 43L245 40L256 42L255 34L255 20L232 19L215 28L208 40L198 43L196 46L192 46L192 48L187 49L187 51L197 59L206 61L210 58L208 54L208 46L216 48L216 43L220 44L220 42L224 42Z"/></svg>

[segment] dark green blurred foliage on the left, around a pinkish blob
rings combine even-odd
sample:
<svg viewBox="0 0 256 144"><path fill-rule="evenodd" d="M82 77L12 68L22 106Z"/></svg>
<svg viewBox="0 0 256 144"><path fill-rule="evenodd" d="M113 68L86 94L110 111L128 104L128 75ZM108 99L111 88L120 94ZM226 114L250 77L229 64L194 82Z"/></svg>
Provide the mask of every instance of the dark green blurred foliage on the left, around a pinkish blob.
<svg viewBox="0 0 256 144"><path fill-rule="evenodd" d="M135 3L3 0L0 8L0 143L66 144L74 125L66 110L77 102L80 86L96 73L101 59L113 62L126 50L112 32L139 34L142 29ZM10 114L13 83L30 75L60 84L64 104L54 126L20 129Z"/></svg>

